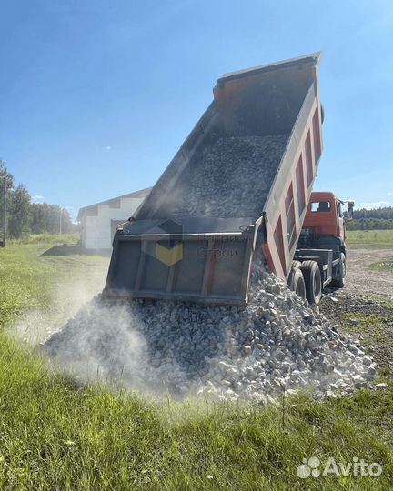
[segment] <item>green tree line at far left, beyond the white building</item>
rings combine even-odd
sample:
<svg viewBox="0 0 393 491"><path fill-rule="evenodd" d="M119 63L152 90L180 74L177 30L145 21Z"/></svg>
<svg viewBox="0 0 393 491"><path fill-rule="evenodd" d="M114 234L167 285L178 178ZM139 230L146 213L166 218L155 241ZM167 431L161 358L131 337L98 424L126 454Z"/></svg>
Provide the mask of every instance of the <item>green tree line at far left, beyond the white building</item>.
<svg viewBox="0 0 393 491"><path fill-rule="evenodd" d="M6 183L7 232L14 238L29 234L59 234L76 230L68 210L58 205L32 203L25 185L15 185L15 178L0 160L0 223L4 221L4 181Z"/></svg>

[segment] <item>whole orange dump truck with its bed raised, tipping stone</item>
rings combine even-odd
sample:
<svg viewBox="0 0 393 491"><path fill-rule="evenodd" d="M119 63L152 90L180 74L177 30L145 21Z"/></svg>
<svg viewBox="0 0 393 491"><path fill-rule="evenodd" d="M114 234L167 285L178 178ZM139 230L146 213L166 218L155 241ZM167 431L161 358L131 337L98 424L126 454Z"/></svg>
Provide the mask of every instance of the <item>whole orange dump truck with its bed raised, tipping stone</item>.
<svg viewBox="0 0 393 491"><path fill-rule="evenodd" d="M320 57L218 79L213 102L117 227L105 296L247 306L259 254L312 303L324 286L343 285L342 202L312 194L323 148Z"/></svg>

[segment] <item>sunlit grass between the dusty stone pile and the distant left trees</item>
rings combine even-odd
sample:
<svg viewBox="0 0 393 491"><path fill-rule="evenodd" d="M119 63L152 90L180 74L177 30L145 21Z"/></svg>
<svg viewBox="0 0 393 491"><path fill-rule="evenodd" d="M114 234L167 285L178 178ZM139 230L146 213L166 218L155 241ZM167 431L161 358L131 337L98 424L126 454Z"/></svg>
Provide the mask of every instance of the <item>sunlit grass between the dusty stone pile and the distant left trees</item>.
<svg viewBox="0 0 393 491"><path fill-rule="evenodd" d="M0 329L35 311L60 326L81 302L101 291L108 258L57 256L56 246L74 246L78 235L34 235L0 249Z"/></svg>

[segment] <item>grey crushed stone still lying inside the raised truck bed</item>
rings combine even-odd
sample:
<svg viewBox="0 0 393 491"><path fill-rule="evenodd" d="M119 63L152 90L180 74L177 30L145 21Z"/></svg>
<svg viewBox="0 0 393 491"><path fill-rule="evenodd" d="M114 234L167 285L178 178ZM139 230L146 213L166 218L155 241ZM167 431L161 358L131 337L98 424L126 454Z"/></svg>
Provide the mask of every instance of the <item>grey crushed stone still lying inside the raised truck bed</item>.
<svg viewBox="0 0 393 491"><path fill-rule="evenodd" d="M286 134L218 139L192 163L169 214L259 217L288 137Z"/></svg>

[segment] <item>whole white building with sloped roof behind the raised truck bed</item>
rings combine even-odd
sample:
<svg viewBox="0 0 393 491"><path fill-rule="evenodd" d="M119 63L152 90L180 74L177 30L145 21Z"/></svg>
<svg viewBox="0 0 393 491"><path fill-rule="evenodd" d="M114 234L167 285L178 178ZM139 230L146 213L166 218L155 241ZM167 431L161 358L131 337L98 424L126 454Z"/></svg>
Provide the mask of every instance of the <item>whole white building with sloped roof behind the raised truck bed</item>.
<svg viewBox="0 0 393 491"><path fill-rule="evenodd" d="M110 250L116 226L126 222L142 204L150 188L109 199L79 210L82 225L82 246L89 250Z"/></svg>

